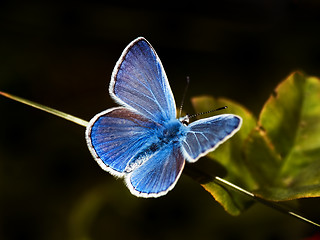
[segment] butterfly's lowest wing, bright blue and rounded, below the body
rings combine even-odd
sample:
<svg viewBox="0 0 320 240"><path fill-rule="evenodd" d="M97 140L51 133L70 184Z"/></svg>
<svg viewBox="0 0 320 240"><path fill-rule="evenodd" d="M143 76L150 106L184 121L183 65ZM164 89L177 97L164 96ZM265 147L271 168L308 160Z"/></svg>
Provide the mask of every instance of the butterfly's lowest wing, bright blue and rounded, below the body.
<svg viewBox="0 0 320 240"><path fill-rule="evenodd" d="M174 144L168 145L127 175L127 186L138 197L165 195L178 181L184 163L181 148Z"/></svg>

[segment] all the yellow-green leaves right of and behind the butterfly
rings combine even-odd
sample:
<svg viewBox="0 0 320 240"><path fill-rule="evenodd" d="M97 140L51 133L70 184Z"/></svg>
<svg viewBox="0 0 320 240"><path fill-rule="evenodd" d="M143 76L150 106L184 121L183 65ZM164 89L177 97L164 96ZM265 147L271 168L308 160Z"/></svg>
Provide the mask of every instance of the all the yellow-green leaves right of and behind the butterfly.
<svg viewBox="0 0 320 240"><path fill-rule="evenodd" d="M196 97L193 105L196 112L227 105L228 112L243 118L241 130L208 155L225 168L222 177L226 180L266 200L319 197L319 79L291 74L271 94L258 121L243 106L226 99ZM213 178L201 184L232 215L238 215L249 203Z"/></svg>

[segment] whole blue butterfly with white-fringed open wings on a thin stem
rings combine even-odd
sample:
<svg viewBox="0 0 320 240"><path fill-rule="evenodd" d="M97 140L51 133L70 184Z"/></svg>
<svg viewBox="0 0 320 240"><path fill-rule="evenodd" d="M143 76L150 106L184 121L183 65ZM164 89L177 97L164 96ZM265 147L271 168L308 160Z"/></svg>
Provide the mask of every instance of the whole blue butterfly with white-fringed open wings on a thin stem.
<svg viewBox="0 0 320 240"><path fill-rule="evenodd" d="M100 167L125 179L138 197L159 197L177 183L185 161L196 162L234 135L242 119L222 114L189 124L177 109L161 61L139 37L123 51L109 86L121 107L89 122L86 140Z"/></svg>

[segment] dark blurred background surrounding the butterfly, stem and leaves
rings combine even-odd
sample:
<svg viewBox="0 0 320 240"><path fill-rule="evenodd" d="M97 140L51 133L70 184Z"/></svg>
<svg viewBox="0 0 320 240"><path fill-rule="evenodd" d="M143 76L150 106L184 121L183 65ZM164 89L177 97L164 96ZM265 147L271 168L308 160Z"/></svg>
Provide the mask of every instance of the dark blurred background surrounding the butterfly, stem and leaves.
<svg viewBox="0 0 320 240"><path fill-rule="evenodd" d="M320 76L319 12L317 0L1 1L0 90L90 120L116 106L113 67L144 36L177 103L189 76L188 98L223 96L258 116L292 71ZM0 239L320 239L260 204L230 216L184 175L165 197L133 197L93 160L83 127L3 97L0 112ZM319 204L296 207L319 221Z"/></svg>

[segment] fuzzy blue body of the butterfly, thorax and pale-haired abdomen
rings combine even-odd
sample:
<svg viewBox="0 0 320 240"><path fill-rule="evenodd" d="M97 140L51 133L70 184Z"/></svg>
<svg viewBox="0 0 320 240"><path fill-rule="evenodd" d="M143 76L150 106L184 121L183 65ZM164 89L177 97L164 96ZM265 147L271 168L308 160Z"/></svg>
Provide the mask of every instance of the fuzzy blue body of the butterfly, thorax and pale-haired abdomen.
<svg viewBox="0 0 320 240"><path fill-rule="evenodd" d="M173 119L163 124L154 132L153 141L146 145L136 154L127 165L125 172L132 172L135 168L142 165L150 159L154 154L163 150L166 147L174 147L175 144L180 144L186 135L186 126L178 119Z"/></svg>

